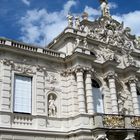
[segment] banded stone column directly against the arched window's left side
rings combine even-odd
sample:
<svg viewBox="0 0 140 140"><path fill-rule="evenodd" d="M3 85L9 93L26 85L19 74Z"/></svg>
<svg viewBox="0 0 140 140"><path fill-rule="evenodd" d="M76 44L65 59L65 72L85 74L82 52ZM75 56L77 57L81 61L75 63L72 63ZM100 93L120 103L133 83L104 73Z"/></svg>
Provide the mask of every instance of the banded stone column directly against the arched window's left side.
<svg viewBox="0 0 140 140"><path fill-rule="evenodd" d="M94 113L91 74L92 74L92 71L87 71L86 81L85 81L85 83L86 83L86 98L87 98L87 112L89 114Z"/></svg>

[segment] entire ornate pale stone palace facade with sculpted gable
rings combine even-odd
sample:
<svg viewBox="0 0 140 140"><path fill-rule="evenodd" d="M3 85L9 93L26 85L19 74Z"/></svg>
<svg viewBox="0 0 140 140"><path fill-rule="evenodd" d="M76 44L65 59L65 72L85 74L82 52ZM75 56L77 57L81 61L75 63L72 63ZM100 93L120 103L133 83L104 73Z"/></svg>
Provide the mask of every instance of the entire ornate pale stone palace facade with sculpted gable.
<svg viewBox="0 0 140 140"><path fill-rule="evenodd" d="M1 140L140 140L140 39L100 2L46 48L0 38Z"/></svg>

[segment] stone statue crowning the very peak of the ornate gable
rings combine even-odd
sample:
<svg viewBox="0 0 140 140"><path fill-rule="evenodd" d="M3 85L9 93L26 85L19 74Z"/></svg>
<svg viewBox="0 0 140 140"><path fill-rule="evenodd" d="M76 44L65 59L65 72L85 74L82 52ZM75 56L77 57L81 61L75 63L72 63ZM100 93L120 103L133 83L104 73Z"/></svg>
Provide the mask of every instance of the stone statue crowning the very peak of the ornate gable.
<svg viewBox="0 0 140 140"><path fill-rule="evenodd" d="M100 0L101 2L101 10L103 17L110 17L110 11L107 0Z"/></svg>

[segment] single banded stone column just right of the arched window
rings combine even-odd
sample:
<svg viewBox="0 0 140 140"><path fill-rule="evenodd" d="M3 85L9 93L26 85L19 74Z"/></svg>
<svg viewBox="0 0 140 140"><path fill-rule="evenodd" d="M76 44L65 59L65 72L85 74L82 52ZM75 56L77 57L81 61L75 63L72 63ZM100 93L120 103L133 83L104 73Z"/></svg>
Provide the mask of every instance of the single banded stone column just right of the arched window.
<svg viewBox="0 0 140 140"><path fill-rule="evenodd" d="M114 73L108 74L108 82L109 82L109 89L110 89L110 93L111 93L112 113L118 114L118 102L117 102L117 95L116 95L116 85L115 85L115 74Z"/></svg>

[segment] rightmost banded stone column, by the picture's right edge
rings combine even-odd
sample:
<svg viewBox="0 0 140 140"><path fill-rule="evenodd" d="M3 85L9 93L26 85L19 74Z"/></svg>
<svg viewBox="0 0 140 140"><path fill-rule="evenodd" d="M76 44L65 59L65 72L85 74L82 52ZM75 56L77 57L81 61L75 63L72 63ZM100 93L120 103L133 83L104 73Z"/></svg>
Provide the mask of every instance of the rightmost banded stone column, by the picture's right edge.
<svg viewBox="0 0 140 140"><path fill-rule="evenodd" d="M130 91L131 91L131 95L132 95L134 115L140 115L136 82L137 82L136 78L130 79L129 85L130 85Z"/></svg>

